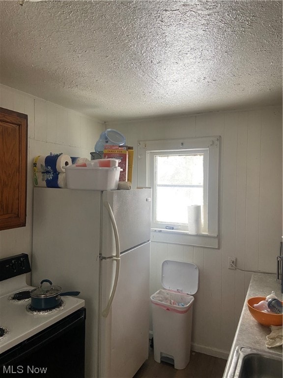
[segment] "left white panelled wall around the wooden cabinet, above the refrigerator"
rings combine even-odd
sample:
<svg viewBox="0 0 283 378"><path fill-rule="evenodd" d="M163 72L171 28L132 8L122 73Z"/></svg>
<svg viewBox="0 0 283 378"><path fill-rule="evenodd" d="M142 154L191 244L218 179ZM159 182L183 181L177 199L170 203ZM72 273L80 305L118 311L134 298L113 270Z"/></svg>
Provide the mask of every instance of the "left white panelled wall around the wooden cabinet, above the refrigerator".
<svg viewBox="0 0 283 378"><path fill-rule="evenodd" d="M0 231L0 257L18 253L31 255L33 158L50 152L62 152L90 159L89 153L94 150L94 144L105 125L3 85L0 85L0 106L28 114L27 225Z"/></svg>

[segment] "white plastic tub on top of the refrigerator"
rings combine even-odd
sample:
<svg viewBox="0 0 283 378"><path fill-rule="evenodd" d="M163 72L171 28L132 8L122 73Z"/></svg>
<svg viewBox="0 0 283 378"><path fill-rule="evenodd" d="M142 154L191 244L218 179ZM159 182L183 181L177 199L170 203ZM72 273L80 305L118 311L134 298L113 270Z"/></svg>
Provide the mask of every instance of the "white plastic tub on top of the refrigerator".
<svg viewBox="0 0 283 378"><path fill-rule="evenodd" d="M120 167L76 167L66 169L68 189L115 190L118 188Z"/></svg>

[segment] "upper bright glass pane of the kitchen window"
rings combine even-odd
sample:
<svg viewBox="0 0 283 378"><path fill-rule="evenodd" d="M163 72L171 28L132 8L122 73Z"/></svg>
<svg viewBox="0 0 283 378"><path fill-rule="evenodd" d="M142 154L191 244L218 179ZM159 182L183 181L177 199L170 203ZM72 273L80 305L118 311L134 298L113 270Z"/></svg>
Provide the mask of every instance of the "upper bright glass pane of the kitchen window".
<svg viewBox="0 0 283 378"><path fill-rule="evenodd" d="M156 184L203 185L203 154L155 157Z"/></svg>

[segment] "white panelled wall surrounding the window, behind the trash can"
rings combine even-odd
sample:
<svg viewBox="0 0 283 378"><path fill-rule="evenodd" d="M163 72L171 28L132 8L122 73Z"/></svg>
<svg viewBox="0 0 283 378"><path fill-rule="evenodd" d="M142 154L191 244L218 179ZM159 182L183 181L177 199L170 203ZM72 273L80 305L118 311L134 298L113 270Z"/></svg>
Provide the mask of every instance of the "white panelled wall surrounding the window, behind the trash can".
<svg viewBox="0 0 283 378"><path fill-rule="evenodd" d="M281 107L109 123L107 127L121 131L127 144L136 149L133 187L138 182L139 140L221 135L220 249L152 243L150 289L154 293L161 287L163 260L197 264L200 285L192 347L226 357L252 275L228 270L228 256L236 256L242 269L276 271L282 235Z"/></svg>

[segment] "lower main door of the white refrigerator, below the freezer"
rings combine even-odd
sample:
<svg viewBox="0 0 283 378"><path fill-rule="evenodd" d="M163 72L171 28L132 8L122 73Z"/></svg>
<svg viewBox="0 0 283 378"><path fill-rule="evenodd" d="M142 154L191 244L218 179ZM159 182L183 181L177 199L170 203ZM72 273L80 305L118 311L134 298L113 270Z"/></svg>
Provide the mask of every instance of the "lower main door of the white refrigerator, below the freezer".
<svg viewBox="0 0 283 378"><path fill-rule="evenodd" d="M100 317L100 378L132 378L148 358L150 242L121 255L120 275L107 317ZM111 260L102 261L101 302L111 291Z"/></svg>

